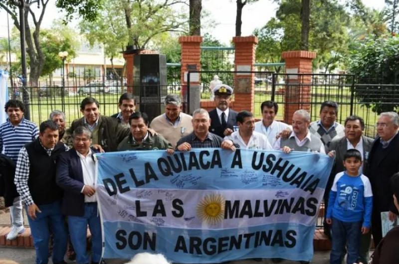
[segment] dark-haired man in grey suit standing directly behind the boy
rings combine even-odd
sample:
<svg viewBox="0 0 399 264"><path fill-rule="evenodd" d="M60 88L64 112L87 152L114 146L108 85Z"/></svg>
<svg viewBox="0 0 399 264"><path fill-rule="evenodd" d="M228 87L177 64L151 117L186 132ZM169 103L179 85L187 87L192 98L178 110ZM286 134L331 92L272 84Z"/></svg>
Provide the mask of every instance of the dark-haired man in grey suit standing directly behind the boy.
<svg viewBox="0 0 399 264"><path fill-rule="evenodd" d="M333 184L334 177L337 173L342 172L345 169L344 167L344 155L348 149L357 149L360 151L362 155L363 165L359 169L359 173L363 173L363 168L365 164L367 164L367 158L369 157L369 153L371 150L371 146L373 145L374 139L371 137L367 137L363 135L365 130L365 122L361 117L358 116L350 116L345 120L345 136L335 137L331 143L328 150L335 151L335 164L333 169L331 170L330 178L327 183L326 190L324 192L324 205L325 208L328 206L328 197L330 194L330 190ZM331 236L330 228L324 223L324 233L327 236ZM362 263L368 263L369 261L369 249L371 242L371 232L368 234L362 235L361 245L360 245L360 260Z"/></svg>

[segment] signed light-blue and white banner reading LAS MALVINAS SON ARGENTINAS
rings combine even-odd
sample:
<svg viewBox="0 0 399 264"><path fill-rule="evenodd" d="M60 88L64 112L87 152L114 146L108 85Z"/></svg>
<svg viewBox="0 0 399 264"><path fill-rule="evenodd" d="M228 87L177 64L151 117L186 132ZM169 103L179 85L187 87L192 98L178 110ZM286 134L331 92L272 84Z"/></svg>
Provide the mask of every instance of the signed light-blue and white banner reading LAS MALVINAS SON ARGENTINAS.
<svg viewBox="0 0 399 264"><path fill-rule="evenodd" d="M333 158L201 148L96 154L103 258L311 261Z"/></svg>

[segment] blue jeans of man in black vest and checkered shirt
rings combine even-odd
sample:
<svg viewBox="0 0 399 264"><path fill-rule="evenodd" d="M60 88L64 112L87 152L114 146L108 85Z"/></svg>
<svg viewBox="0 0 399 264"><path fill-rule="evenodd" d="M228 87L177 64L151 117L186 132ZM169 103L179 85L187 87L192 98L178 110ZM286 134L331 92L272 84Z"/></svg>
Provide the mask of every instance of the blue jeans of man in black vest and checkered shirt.
<svg viewBox="0 0 399 264"><path fill-rule="evenodd" d="M57 201L37 207L41 213L36 212L36 219L33 220L28 215L30 232L36 250L36 264L48 263L49 228L51 228L54 236L52 261L53 263L60 263L64 261L67 239L64 216L61 214L61 203ZM27 211L28 208L26 207Z"/></svg>

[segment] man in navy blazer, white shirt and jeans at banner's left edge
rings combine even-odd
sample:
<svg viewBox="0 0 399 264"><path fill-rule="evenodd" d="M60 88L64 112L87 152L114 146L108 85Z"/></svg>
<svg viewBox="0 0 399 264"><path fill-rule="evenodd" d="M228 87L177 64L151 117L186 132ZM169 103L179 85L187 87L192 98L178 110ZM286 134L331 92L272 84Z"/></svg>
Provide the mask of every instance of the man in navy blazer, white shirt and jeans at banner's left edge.
<svg viewBox="0 0 399 264"><path fill-rule="evenodd" d="M95 190L96 150L90 148L90 130L77 127L72 134L73 148L59 156L57 184L64 189L61 211L68 216L69 234L76 253L77 263L89 263L86 252L87 225L92 242L92 264L101 260L101 222Z"/></svg>

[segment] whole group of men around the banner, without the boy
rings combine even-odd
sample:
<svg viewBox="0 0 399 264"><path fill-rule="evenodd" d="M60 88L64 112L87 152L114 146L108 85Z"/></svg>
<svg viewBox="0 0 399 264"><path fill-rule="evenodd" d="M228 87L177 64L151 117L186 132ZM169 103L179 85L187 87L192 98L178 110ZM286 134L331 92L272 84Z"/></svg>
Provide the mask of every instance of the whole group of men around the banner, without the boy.
<svg viewBox="0 0 399 264"><path fill-rule="evenodd" d="M373 139L363 135L365 124L361 117L348 117L344 126L337 123L338 105L332 101L321 105L319 121L311 123L309 113L299 109L289 126L275 120L278 105L273 101L261 104L262 120L255 122L252 113L237 113L229 108L231 87L219 84L213 92L216 108L210 112L198 109L193 116L182 112L179 96L168 95L164 101L165 114L151 123L146 113L136 112L136 101L131 94L120 97L121 111L112 117L100 115L99 102L88 97L80 105L83 117L73 121L68 129L65 115L60 111L52 112L50 119L37 129L23 118L23 104L9 100L5 105L8 119L0 125L3 153L0 166L15 164L14 175L9 176L13 181L7 181L4 195L6 204L12 205L12 229L7 239L15 239L24 231L22 201L33 236L36 263L48 262L50 233L54 241L53 263L64 263L68 233L77 263L90 263L86 252L87 226L92 235L91 263L99 263L102 241L94 183L95 152L165 149L172 154L192 148L222 147L232 151L275 149L335 155L326 202L332 179L344 170L343 155L348 149L358 149L364 159L362 172L370 178L375 194L372 218L375 245L381 241L380 213L389 211L392 220L398 215L389 185L391 176L399 171L399 156L395 155L399 149L398 114L382 113L376 125L378 135ZM13 174L12 166L9 171ZM327 225L325 231L328 234ZM360 255L364 263L370 240L370 235L362 238Z"/></svg>

